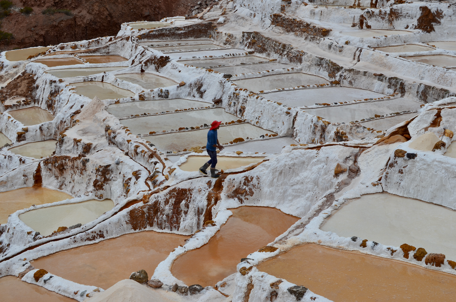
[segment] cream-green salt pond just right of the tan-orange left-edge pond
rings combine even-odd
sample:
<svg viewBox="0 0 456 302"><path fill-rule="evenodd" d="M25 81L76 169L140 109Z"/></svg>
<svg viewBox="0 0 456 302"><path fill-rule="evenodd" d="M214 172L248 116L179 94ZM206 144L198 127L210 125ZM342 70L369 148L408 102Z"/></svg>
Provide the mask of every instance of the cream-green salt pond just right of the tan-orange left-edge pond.
<svg viewBox="0 0 456 302"><path fill-rule="evenodd" d="M60 226L84 225L114 208L110 199L88 200L68 205L54 205L31 210L19 215L19 219L43 236L49 236Z"/></svg>

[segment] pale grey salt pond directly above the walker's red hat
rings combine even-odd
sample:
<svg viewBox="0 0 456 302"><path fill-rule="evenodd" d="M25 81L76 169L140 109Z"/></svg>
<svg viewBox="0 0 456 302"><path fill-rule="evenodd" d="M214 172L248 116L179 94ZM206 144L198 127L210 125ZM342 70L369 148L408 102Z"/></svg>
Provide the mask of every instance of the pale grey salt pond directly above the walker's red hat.
<svg viewBox="0 0 456 302"><path fill-rule="evenodd" d="M133 134L149 134L163 130L178 130L179 128L201 127L210 125L212 121L231 122L239 118L228 113L223 108L210 108L177 113L128 118L122 124L130 129Z"/></svg>

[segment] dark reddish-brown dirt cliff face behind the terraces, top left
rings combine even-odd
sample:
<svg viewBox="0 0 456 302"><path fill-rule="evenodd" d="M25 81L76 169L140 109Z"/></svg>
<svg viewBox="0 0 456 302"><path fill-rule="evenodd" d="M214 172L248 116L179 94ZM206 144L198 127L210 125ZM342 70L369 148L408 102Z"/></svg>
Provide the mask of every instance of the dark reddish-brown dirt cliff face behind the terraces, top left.
<svg viewBox="0 0 456 302"><path fill-rule="evenodd" d="M10 15L1 20L1 31L13 34L0 42L0 51L56 45L62 42L114 36L124 22L157 21L186 15L197 0L12 0ZM30 15L19 9L33 8ZM69 10L43 15L46 9Z"/></svg>

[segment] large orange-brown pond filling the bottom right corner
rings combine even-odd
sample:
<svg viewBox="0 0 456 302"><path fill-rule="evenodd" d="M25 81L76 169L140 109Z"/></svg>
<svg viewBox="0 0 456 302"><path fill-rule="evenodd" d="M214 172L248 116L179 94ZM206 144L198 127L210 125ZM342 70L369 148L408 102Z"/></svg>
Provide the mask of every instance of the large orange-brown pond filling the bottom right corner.
<svg viewBox="0 0 456 302"><path fill-rule="evenodd" d="M336 302L455 301L456 276L358 251L303 244L257 268Z"/></svg>

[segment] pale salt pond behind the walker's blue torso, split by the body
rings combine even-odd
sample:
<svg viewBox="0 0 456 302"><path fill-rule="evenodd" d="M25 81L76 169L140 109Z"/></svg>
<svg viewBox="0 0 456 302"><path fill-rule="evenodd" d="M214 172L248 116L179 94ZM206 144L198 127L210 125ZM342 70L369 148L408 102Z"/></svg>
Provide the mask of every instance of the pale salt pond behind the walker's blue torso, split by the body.
<svg viewBox="0 0 456 302"><path fill-rule="evenodd" d="M123 122L123 121L122 121ZM182 151L197 146L206 146L207 131L209 129L200 129L185 132L174 132L150 136L147 139L151 141L160 151ZM220 127L217 130L219 143L229 143L234 138L259 138L265 134L276 134L269 130L256 127L249 123L235 124Z"/></svg>

